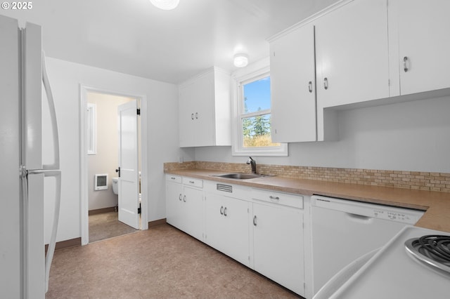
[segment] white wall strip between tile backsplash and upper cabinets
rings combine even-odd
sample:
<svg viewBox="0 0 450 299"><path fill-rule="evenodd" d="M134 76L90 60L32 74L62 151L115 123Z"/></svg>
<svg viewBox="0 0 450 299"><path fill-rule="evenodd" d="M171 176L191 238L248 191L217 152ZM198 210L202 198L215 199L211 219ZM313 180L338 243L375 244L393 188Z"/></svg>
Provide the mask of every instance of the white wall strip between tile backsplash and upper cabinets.
<svg viewBox="0 0 450 299"><path fill-rule="evenodd" d="M340 140L297 142L259 164L450 173L450 97L339 112ZM197 147L195 160L245 163L231 147ZM249 166L250 167L250 166ZM250 169L249 169L250 171Z"/></svg>

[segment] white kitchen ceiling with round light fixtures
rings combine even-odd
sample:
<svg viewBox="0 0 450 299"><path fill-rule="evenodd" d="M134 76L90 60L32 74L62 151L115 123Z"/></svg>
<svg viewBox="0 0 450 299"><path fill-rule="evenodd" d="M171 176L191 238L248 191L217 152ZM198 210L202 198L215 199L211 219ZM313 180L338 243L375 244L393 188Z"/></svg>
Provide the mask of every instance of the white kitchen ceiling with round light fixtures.
<svg viewBox="0 0 450 299"><path fill-rule="evenodd" d="M177 84L233 55L255 62L266 39L336 0L180 0L173 11L148 0L35 0L1 14L43 27L46 55Z"/></svg>

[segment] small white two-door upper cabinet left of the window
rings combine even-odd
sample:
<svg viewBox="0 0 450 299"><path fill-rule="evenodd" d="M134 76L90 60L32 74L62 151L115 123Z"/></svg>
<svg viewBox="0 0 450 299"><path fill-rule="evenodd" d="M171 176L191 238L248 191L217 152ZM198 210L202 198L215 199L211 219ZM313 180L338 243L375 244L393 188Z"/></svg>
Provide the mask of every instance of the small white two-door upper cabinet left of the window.
<svg viewBox="0 0 450 299"><path fill-rule="evenodd" d="M179 86L179 145L231 145L230 75L217 67Z"/></svg>

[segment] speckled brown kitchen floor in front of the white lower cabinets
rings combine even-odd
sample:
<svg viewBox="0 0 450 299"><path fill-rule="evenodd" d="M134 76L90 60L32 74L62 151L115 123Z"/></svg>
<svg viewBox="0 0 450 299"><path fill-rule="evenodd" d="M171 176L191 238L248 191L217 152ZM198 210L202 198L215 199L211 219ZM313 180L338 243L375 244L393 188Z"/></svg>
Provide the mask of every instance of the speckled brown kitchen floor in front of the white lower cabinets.
<svg viewBox="0 0 450 299"><path fill-rule="evenodd" d="M56 251L51 298L301 298L170 225Z"/></svg>

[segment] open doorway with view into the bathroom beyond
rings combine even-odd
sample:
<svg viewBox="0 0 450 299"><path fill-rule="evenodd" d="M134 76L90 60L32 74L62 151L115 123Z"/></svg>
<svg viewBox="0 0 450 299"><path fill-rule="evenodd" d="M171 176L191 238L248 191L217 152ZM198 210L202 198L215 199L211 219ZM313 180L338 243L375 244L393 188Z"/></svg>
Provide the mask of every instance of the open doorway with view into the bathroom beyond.
<svg viewBox="0 0 450 299"><path fill-rule="evenodd" d="M121 105L133 104L133 102L134 105L137 103L138 106L140 103L141 109L146 107L146 98L143 96L81 86L80 110L82 113L80 123L82 124L82 134L80 135L82 140L80 140L80 143L82 144L82 154L80 156L82 159L80 164L82 184L80 187L82 190L80 190L80 193L82 194L82 245L91 241L136 232L136 228L139 227L141 230L148 229L148 204L145 183L147 155L144 149L146 145L145 114L137 117L139 129L136 132L140 137L136 136L137 140L139 140L136 150L139 150L138 164L141 165L140 169L136 169L136 177L137 171L139 171L140 214L138 215L136 211L136 216L139 217L139 226L133 225L134 227L130 227L119 221L120 207L125 206L124 197L122 196L122 204L120 204L118 201L119 194L113 192L113 178L115 178L115 183L117 184L117 177L119 176L119 173L116 173L120 152L120 142L118 141L120 139L120 130L117 129L117 122L120 120L120 117L117 115L117 109ZM86 113L89 107L93 105L96 114L96 122L94 121L95 130L92 128L92 118L89 117L91 114ZM146 110L143 109L143 111ZM104 189L99 188L96 190L94 177L98 178L99 175L103 175L103 180L107 182ZM117 190L117 188L115 189ZM138 205L137 200L136 198L136 205Z"/></svg>

